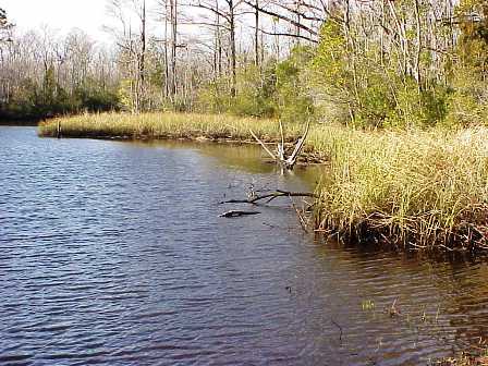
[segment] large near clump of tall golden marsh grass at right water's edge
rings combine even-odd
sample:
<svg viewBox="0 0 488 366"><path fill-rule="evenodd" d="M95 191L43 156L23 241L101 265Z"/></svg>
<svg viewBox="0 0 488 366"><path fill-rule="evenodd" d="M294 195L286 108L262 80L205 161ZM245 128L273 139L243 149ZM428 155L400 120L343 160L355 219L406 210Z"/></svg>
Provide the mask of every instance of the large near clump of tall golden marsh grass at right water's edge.
<svg viewBox="0 0 488 366"><path fill-rule="evenodd" d="M406 248L486 248L487 129L337 129L325 141L318 228Z"/></svg>

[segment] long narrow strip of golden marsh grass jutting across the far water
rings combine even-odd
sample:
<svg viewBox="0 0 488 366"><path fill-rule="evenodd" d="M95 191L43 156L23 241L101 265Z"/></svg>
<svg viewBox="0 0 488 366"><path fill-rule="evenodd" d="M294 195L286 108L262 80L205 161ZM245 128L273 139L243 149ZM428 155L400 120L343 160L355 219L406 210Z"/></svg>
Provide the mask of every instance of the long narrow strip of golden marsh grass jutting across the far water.
<svg viewBox="0 0 488 366"><path fill-rule="evenodd" d="M251 141L249 129L258 137L277 141L278 129L272 120L239 118L228 114L183 113L101 113L59 118L40 123L39 135L56 136L58 122L64 137L115 138L209 138ZM286 139L301 133L298 125L286 129Z"/></svg>

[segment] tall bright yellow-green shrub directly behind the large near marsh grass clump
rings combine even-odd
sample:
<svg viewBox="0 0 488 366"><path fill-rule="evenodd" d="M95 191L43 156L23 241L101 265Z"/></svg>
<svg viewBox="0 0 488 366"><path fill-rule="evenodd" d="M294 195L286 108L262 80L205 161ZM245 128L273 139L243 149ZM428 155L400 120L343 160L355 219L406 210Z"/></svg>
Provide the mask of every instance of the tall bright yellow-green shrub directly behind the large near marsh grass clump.
<svg viewBox="0 0 488 366"><path fill-rule="evenodd" d="M327 22L313 61L317 88L342 108L342 123L361 127L431 126L443 122L449 108L449 88L437 82L418 85L412 76L399 75L395 54L378 64L378 50L365 54L347 51L343 28ZM427 87L428 85L428 87Z"/></svg>

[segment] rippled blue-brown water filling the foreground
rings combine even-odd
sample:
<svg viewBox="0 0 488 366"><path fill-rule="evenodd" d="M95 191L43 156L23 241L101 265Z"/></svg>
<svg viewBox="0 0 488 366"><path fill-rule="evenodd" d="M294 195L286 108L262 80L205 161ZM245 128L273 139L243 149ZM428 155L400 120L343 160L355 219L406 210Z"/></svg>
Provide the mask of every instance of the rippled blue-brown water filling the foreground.
<svg viewBox="0 0 488 366"><path fill-rule="evenodd" d="M418 365L488 335L484 261L314 241L286 200L219 218L316 178L259 158L0 126L0 365Z"/></svg>

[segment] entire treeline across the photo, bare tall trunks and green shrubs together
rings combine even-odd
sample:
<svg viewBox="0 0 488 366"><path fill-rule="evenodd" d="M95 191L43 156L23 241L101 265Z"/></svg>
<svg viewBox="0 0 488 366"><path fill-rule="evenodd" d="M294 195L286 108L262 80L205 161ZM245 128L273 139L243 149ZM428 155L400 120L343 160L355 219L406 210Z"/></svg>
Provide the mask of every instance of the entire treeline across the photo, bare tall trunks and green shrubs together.
<svg viewBox="0 0 488 366"><path fill-rule="evenodd" d="M163 39L148 33L144 0L109 5L111 47L81 30L19 34L0 13L1 118L175 110L365 127L488 119L488 0L167 0L156 20ZM202 32L185 34L187 23Z"/></svg>

